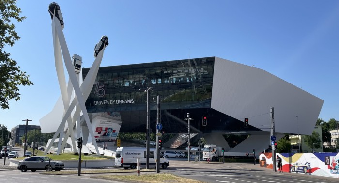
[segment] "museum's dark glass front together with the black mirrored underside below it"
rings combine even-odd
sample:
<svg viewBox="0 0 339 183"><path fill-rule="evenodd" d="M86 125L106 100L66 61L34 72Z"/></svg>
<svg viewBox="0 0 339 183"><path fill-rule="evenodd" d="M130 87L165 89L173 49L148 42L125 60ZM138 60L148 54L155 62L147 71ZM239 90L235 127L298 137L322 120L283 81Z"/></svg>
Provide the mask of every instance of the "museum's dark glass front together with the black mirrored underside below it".
<svg viewBox="0 0 339 183"><path fill-rule="evenodd" d="M122 121L120 132L144 132L148 87L150 127L156 131L156 99L161 99L161 123L167 133L242 131L243 122L211 108L215 57L100 67L86 101L88 113ZM83 78L89 69L82 69ZM154 100L153 100L154 99ZM202 116L208 116L202 126ZM247 129L249 130L249 129Z"/></svg>

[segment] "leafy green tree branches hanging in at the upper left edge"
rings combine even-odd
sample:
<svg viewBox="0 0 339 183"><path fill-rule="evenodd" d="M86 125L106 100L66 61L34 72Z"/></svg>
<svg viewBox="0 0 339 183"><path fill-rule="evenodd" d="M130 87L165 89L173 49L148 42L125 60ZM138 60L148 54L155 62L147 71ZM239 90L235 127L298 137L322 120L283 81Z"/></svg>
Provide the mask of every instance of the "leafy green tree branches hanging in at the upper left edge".
<svg viewBox="0 0 339 183"><path fill-rule="evenodd" d="M16 0L0 0L0 106L9 109L8 101L20 100L19 85L33 85L29 75L20 70L11 54L4 51L6 45L13 46L20 37L15 32L12 20L21 22L26 17L20 17L21 9L16 6Z"/></svg>

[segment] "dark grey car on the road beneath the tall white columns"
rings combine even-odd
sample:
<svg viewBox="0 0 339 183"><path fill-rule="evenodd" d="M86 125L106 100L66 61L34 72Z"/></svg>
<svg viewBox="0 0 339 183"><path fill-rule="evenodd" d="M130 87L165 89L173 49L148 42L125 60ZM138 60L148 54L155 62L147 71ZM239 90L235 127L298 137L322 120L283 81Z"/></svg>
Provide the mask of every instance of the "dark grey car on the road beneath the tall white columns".
<svg viewBox="0 0 339 183"><path fill-rule="evenodd" d="M54 161L46 156L32 156L26 159L19 161L17 169L21 172L26 172L31 170L35 172L36 170L46 170L46 171L60 171L65 168L65 164L61 161Z"/></svg>

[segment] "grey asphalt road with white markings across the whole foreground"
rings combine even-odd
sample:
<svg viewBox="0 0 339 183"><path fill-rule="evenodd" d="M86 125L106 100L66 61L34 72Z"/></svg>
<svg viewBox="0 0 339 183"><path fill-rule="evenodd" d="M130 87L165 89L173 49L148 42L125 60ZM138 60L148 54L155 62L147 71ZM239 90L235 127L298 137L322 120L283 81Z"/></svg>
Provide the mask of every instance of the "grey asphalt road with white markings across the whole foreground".
<svg viewBox="0 0 339 183"><path fill-rule="evenodd" d="M123 168L119 169L124 172ZM152 168L151 168L152 169ZM141 169L142 170L142 169ZM67 171L67 170L62 170ZM61 171L61 172L62 172ZM43 175L45 171L20 172L19 170L7 170L0 168L0 180L5 183L117 183L113 180L95 179L97 174L76 175ZM171 159L167 169L160 169L160 173L175 174L180 177L196 179L207 183L338 183L338 179L312 176L308 174L278 173L271 169L260 167L258 164L249 163L207 163L188 162L185 159ZM107 174L107 173L104 173ZM120 173L118 173L120 174ZM126 175L127 173L122 173ZM136 175L136 172L129 173ZM155 174L141 172L143 174Z"/></svg>

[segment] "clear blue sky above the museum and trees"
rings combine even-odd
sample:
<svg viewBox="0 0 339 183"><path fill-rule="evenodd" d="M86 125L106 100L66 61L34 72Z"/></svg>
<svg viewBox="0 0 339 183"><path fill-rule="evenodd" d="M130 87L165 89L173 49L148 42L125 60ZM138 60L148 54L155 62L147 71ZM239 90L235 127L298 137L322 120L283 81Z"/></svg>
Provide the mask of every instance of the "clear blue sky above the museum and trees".
<svg viewBox="0 0 339 183"><path fill-rule="evenodd" d="M60 96L48 0L19 0L21 37L6 47L30 75L21 100L0 110L10 130L40 125ZM102 35L101 66L217 56L266 70L324 100L319 118L339 120L338 0L58 0L70 54L91 67ZM274 107L274 106L273 106ZM269 110L269 109L267 109Z"/></svg>

